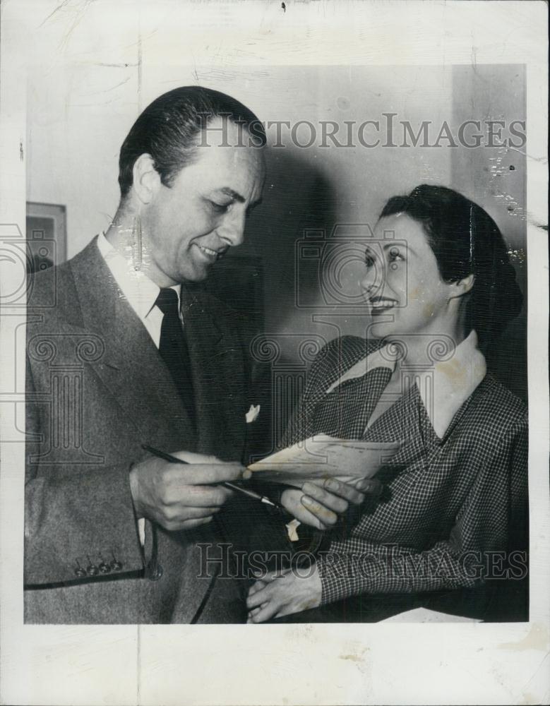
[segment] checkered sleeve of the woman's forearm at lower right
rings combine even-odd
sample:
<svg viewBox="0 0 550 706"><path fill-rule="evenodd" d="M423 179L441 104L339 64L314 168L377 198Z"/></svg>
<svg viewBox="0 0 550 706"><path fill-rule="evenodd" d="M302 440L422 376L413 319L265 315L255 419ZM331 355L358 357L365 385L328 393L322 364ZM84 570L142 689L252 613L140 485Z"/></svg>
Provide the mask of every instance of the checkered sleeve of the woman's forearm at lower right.
<svg viewBox="0 0 550 706"><path fill-rule="evenodd" d="M361 593L424 592L474 587L488 578L522 578L526 533L525 417L503 434L480 467L449 536L431 549L414 551L353 536L331 542L317 561L321 604Z"/></svg>

